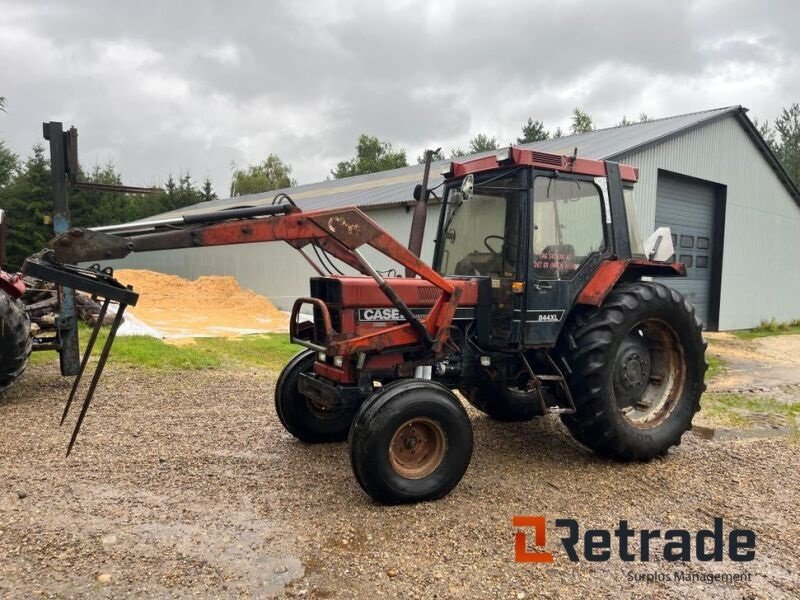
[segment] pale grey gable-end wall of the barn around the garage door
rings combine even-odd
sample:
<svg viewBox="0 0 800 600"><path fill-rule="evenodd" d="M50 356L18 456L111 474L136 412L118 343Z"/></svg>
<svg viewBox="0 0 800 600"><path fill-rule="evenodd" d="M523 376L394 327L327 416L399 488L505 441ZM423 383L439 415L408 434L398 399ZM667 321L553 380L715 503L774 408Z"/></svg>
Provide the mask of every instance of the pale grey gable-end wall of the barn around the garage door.
<svg viewBox="0 0 800 600"><path fill-rule="evenodd" d="M800 207L732 117L619 159L639 167L642 231L655 224L658 169L727 186L719 328L800 317Z"/></svg>

